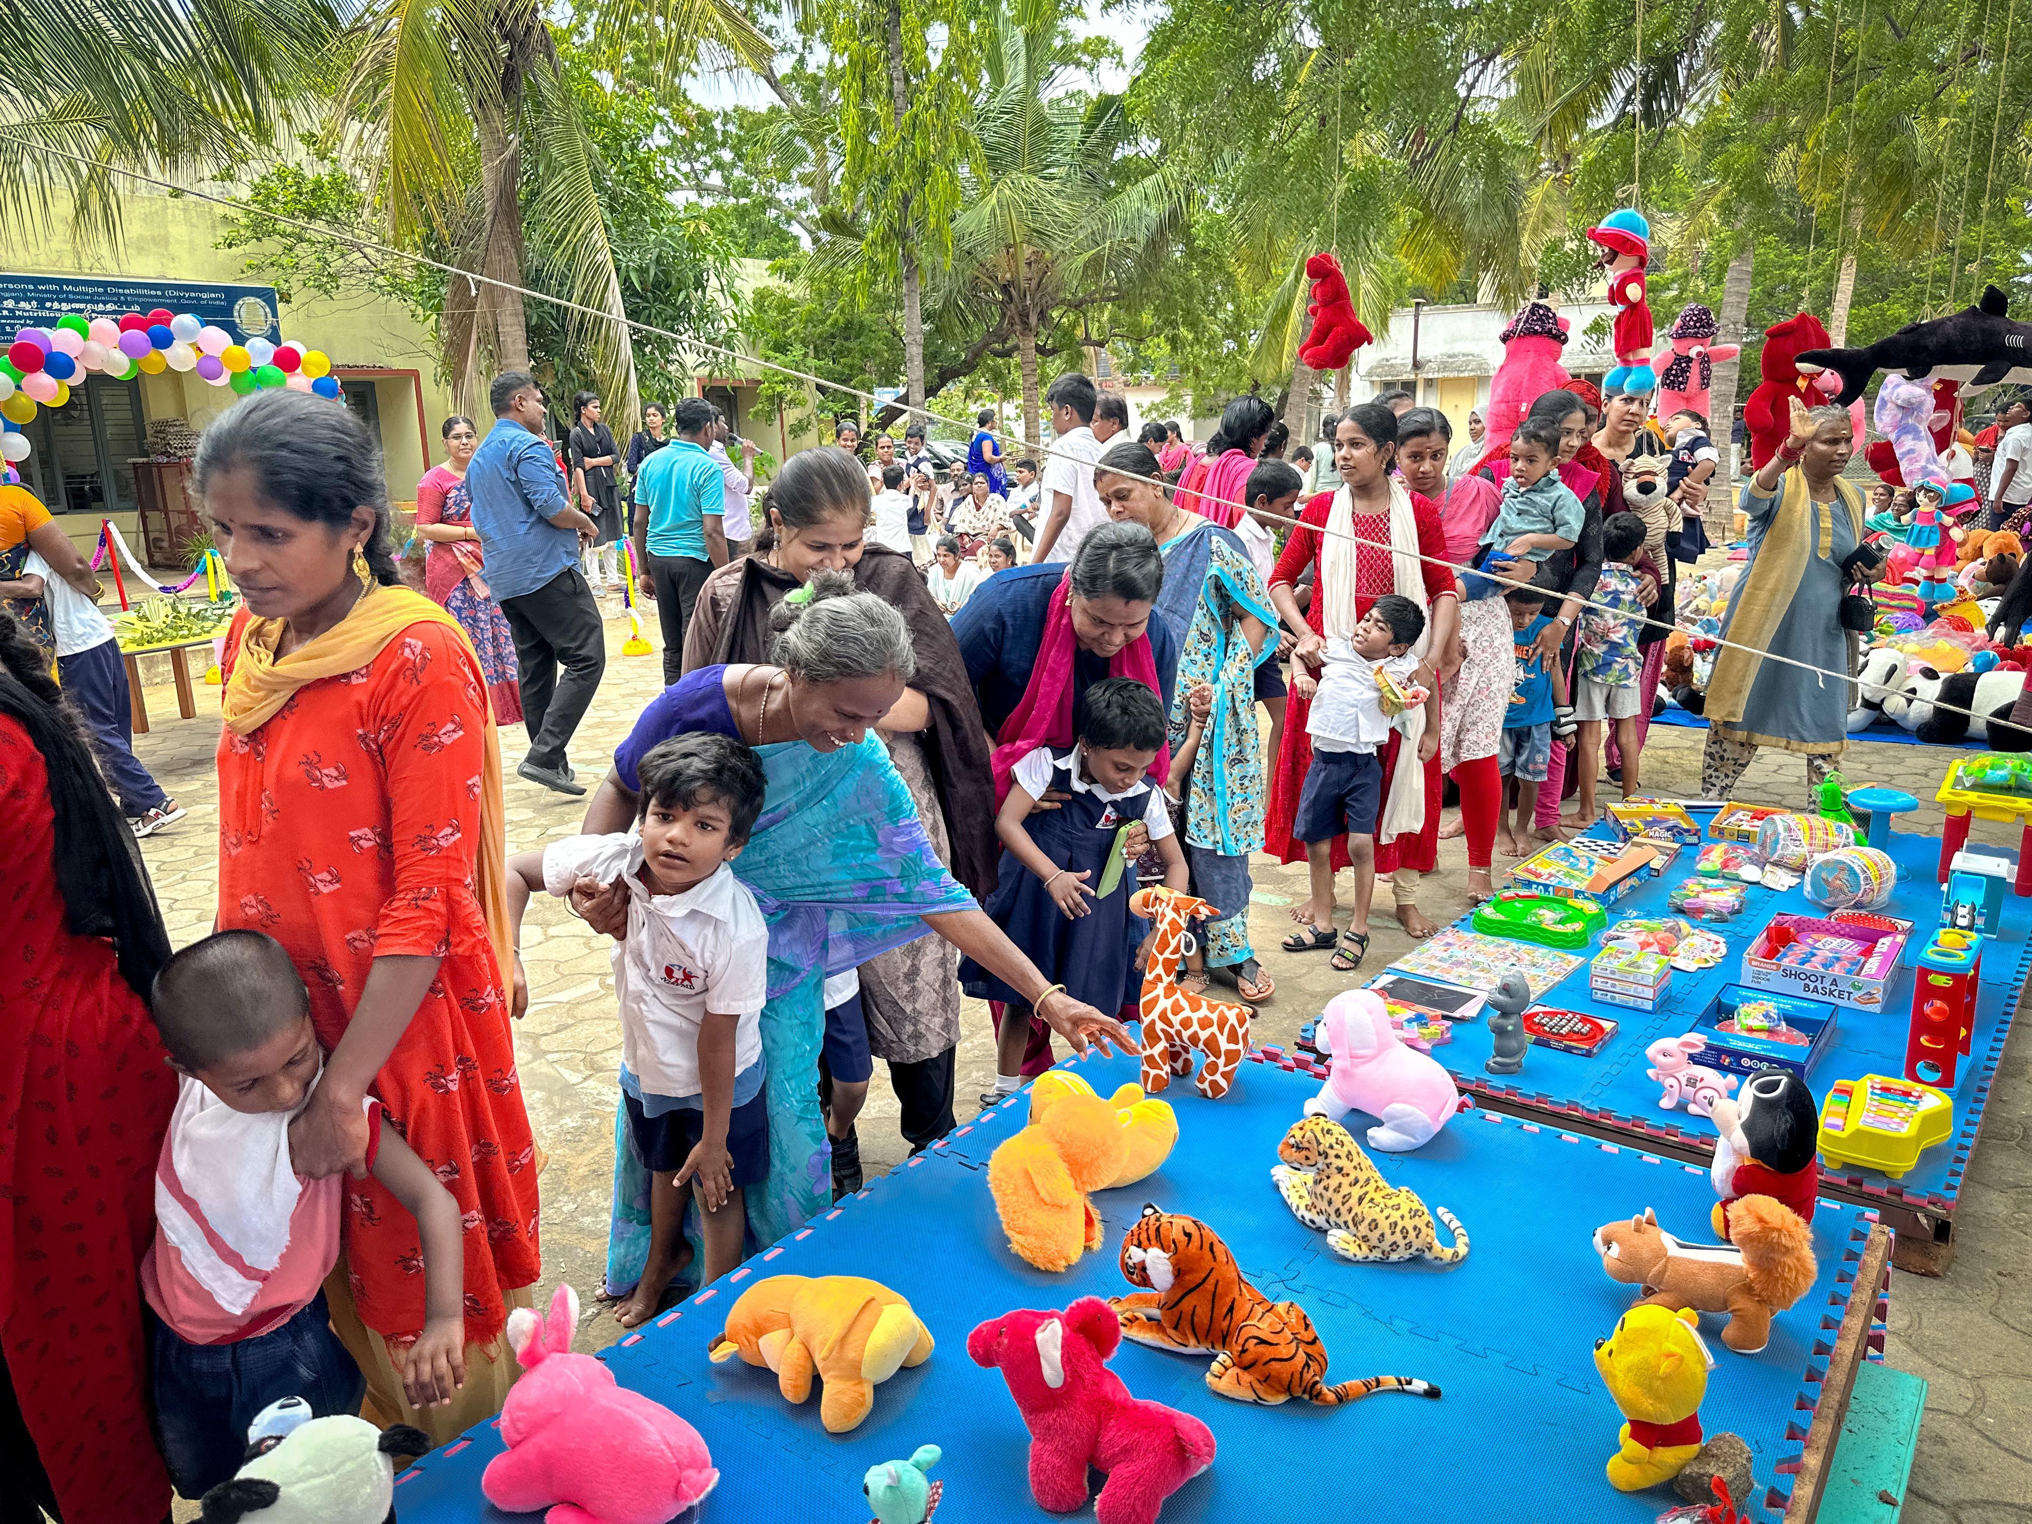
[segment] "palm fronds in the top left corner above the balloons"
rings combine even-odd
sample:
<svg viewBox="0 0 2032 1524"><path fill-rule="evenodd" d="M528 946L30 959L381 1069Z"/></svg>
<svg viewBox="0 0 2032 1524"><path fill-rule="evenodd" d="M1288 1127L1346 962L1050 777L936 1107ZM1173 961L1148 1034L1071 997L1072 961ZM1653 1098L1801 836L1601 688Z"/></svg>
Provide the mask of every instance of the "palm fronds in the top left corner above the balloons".
<svg viewBox="0 0 2032 1524"><path fill-rule="evenodd" d="M189 179L244 161L337 28L327 0L0 6L0 209L47 221L63 189L83 232L116 234L126 185L112 169Z"/></svg>

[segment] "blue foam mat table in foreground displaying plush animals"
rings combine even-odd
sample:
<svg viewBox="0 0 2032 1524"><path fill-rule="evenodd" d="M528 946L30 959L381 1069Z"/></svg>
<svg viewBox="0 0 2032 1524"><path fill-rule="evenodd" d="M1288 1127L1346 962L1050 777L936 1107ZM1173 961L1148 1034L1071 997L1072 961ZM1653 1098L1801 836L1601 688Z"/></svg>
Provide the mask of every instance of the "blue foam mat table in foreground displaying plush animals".
<svg viewBox="0 0 2032 1524"><path fill-rule="evenodd" d="M1079 1071L1103 1095L1134 1079L1126 1059L1087 1059ZM923 1443L945 1449L935 1471L945 1479L939 1524L1046 1518L1028 1494L1022 1420L1002 1376L967 1359L967 1331L1016 1307L1057 1309L1081 1294L1130 1290L1118 1270L1122 1233L1142 1203L1154 1201L1209 1221L1256 1286L1311 1313L1331 1355L1329 1380L1420 1376L1445 1390L1439 1400L1380 1394L1347 1408L1258 1408L1213 1396L1205 1359L1124 1345L1112 1368L1130 1390L1197 1414L1219 1445L1213 1469L1164 1506L1166 1524L1317 1524L1323 1516L1650 1524L1672 1502L1670 1491L1624 1496L1601 1475L1620 1416L1595 1372L1593 1343L1632 1305L1634 1288L1601 1274L1591 1233L1650 1205L1668 1227L1701 1237L1713 1203L1705 1174L1475 1107L1416 1154L1372 1154L1394 1183L1463 1221L1467 1260L1455 1268L1347 1264L1286 1211L1270 1183L1276 1144L1315 1089L1317 1081L1274 1063L1242 1065L1221 1101L1172 1083L1166 1099L1179 1112L1177 1150L1148 1181L1095 1195L1107 1244L1063 1276L1010 1254L988 1195L986 1158L1020 1128L1024 1095L606 1357L622 1386L666 1402L705 1437L723 1473L695 1514L707 1524L868 1518L860 1498L866 1469ZM1727 1428L1750 1443L1754 1518L1784 1510L1851 1296L1869 1298L1882 1319L1880 1288L1855 1286L1871 1223L1865 1209L1821 1203L1819 1282L1778 1319L1762 1353L1725 1349L1719 1321L1707 1319L1717 1368L1701 1416L1709 1433ZM918 1370L876 1388L874 1412L860 1428L827 1435L817 1400L792 1408L766 1370L707 1359L723 1309L768 1274L882 1280L910 1298L939 1347ZM484 1502L480 1473L496 1453L498 1433L482 1426L427 1455L396 1489L404 1524L534 1520ZM1292 1481L1341 1487L1335 1455L1366 1465L1323 1514L1319 1489Z"/></svg>

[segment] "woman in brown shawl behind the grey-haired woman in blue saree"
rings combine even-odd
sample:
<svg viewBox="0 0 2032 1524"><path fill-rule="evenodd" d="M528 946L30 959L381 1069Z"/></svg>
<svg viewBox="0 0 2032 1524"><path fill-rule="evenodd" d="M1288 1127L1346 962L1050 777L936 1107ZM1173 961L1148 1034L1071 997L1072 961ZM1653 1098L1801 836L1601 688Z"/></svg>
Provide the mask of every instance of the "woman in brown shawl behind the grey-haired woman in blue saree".
<svg viewBox="0 0 2032 1524"><path fill-rule="evenodd" d="M868 475L839 451L792 455L768 492L768 528L754 555L727 563L699 591L685 630L685 671L713 662L770 660L768 616L819 569L851 571L862 591L904 616L916 677L880 725L896 772L910 786L925 835L961 884L986 898L996 884L994 778L988 732L973 703L953 630L908 555L864 541ZM923 1150L953 1130L953 1051L959 1044L957 955L920 937L860 967L868 1049L888 1061L902 1105L902 1136ZM849 994L827 990L833 1006ZM835 1193L862 1185L853 1120L868 1081L821 1069Z"/></svg>

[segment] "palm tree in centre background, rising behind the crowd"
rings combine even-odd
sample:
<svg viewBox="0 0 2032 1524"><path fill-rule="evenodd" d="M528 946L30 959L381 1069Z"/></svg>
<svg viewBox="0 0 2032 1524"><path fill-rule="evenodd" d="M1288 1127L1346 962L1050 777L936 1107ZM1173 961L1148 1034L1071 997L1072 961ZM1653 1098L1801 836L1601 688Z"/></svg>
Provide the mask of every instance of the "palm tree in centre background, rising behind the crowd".
<svg viewBox="0 0 2032 1524"><path fill-rule="evenodd" d="M1069 85L1077 53L1049 14L1000 14L973 112L975 150L933 305L969 333L1006 335L1022 372L1024 439L1038 435L1038 335L1122 301L1183 226L1191 185L1138 144L1122 96Z"/></svg>

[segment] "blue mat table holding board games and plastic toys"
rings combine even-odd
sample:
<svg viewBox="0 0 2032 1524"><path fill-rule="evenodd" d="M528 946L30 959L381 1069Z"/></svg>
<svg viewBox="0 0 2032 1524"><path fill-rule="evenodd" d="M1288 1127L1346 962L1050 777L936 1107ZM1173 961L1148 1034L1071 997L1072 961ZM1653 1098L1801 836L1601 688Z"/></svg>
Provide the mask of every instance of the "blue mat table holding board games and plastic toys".
<svg viewBox="0 0 2032 1524"><path fill-rule="evenodd" d="M2032 801L2024 803L2032 805ZM1711 805L1701 811L1689 805L1689 809L1705 823L1719 807ZM1593 833L1601 835L1603 829L1595 827ZM1865 1073L1904 1073L1912 965L1924 951L1926 935L1941 923L1941 890L1932 878L1934 847L1930 837L1920 835L1894 833L1890 839L1888 851L1898 862L1900 882L1884 912L1916 923L1918 931L1906 943L1884 1014L1851 1006L1837 1008L1835 1036L1808 1075L1817 1103L1837 1079L1855 1079ZM1685 853L1680 862L1687 862ZM1646 882L1615 906L1615 914L1638 918L1668 914L1666 896L1680 878L1685 878L1685 870L1674 868L1664 878ZM1674 971L1672 988L1656 1012L1605 1006L1593 1000L1587 986L1587 965L1538 996L1540 1004L1546 1006L1563 1006L1620 1022L1615 1034L1593 1057L1554 1053L1534 1044L1524 1059L1524 1073L1489 1075L1481 1067L1489 1057L1487 1024L1481 1020L1457 1022L1453 1042L1439 1049L1435 1057L1447 1065L1461 1089L1498 1109L1550 1118L1565 1128L1705 1166L1715 1148L1713 1124L1689 1116L1685 1109L1658 1109L1660 1087L1644 1077L1648 1069L1644 1049L1660 1036L1691 1032L1721 986L1739 981L1743 949L1770 923L1772 914L1780 910L1823 914L1806 902L1804 886L1778 892L1762 884L1745 884L1743 890L1748 898L1743 914L1733 920L1699 923L1727 943L1721 965L1699 973ZM1896 1264L1904 1270L1943 1274L1953 1262L1953 1223L1961 1181L1983 1122L1991 1077L2004 1055L2012 1012L2024 990L2028 967L2032 967L2028 931L2032 931L2032 904L2006 896L1999 935L1983 943L1969 1055L1961 1059L1953 1085L1953 1136L1924 1150L1898 1181L1859 1164L1823 1166L1823 1195L1876 1207L1884 1221L1896 1229ZM1520 947L1530 953L1538 951ZM1303 1059L1303 1063L1309 1065L1311 1059Z"/></svg>

